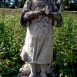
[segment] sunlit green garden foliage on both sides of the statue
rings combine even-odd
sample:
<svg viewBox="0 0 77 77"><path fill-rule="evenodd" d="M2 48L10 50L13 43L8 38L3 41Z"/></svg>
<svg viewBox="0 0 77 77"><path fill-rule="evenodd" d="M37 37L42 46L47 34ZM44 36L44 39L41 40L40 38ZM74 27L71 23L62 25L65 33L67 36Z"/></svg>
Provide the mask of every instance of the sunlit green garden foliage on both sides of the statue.
<svg viewBox="0 0 77 77"><path fill-rule="evenodd" d="M20 25L21 9L0 9L0 77L17 77L24 64L20 51L26 28ZM53 67L56 77L77 77L77 15L62 13L62 27L54 27Z"/></svg>

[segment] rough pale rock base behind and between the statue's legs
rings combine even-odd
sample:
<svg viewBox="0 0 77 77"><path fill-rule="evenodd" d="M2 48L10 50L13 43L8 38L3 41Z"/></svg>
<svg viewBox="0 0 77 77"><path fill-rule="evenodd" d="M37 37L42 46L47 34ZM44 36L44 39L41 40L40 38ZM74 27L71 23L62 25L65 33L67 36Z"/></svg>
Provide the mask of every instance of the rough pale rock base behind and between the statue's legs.
<svg viewBox="0 0 77 77"><path fill-rule="evenodd" d="M52 68L52 66L50 66L50 73L48 71L47 77L55 77L53 70L54 69ZM17 77L29 77L29 75L30 75L30 65L26 63L19 69L19 74ZM37 72L37 77L41 77L40 72Z"/></svg>

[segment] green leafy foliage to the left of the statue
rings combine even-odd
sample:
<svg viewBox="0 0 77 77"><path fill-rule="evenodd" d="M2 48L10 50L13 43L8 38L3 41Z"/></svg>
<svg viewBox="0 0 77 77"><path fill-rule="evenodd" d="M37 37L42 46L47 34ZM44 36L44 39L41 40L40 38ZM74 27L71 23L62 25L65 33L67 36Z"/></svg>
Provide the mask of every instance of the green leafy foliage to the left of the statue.
<svg viewBox="0 0 77 77"><path fill-rule="evenodd" d="M19 53L26 29L20 26L20 14L3 13L0 13L0 75L13 77L23 63Z"/></svg>

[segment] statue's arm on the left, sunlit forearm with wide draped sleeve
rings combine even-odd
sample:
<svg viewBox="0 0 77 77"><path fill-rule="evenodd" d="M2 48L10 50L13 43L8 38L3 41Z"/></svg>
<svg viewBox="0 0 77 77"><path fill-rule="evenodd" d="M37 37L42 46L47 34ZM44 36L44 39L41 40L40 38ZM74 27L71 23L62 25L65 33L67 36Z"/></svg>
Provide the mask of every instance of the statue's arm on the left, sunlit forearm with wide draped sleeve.
<svg viewBox="0 0 77 77"><path fill-rule="evenodd" d="M26 3L24 4L20 20L22 26L29 25L27 23L30 23L30 21L36 19L39 15L44 13L44 9L32 11L31 8L32 8L32 1L27 0Z"/></svg>

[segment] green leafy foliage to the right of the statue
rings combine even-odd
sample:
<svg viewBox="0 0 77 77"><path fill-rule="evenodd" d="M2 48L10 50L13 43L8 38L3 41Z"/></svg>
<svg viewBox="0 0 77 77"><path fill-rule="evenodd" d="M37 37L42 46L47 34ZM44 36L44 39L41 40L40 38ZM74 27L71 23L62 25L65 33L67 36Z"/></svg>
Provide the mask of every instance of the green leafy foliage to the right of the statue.
<svg viewBox="0 0 77 77"><path fill-rule="evenodd" d="M77 15L63 14L63 25L54 28L54 60L56 77L76 77Z"/></svg>

